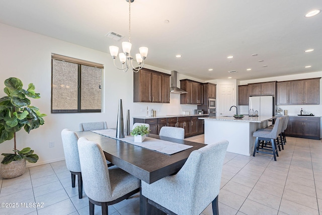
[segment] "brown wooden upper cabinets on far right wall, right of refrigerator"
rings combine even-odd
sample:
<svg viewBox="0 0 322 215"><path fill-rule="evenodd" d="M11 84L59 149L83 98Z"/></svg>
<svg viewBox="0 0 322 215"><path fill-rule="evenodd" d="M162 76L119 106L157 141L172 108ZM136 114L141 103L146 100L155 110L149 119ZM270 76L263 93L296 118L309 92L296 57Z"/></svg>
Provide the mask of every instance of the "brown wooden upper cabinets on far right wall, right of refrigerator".
<svg viewBox="0 0 322 215"><path fill-rule="evenodd" d="M320 78L278 82L277 105L318 105Z"/></svg>

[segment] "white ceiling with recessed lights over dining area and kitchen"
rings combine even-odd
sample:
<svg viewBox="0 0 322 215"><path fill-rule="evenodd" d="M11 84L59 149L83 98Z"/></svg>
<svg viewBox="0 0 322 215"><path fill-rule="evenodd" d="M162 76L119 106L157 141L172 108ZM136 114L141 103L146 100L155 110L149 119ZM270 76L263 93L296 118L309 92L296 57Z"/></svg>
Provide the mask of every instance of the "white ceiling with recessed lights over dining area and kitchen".
<svg viewBox="0 0 322 215"><path fill-rule="evenodd" d="M205 81L322 71L322 13L304 17L313 9L322 1L135 0L132 55L147 46L146 64ZM128 19L125 0L0 0L1 23L107 53L128 41ZM114 41L110 31L124 37Z"/></svg>

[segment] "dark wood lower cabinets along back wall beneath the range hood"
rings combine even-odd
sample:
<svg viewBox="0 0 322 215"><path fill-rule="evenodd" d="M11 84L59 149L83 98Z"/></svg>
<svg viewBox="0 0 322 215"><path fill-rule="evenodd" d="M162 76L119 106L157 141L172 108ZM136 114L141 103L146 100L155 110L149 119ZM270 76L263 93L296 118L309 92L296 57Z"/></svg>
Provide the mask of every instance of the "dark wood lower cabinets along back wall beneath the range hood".
<svg viewBox="0 0 322 215"><path fill-rule="evenodd" d="M133 118L133 123L147 123L150 125L150 133L159 134L163 126L181 127L185 129L185 137L204 133L204 120L200 116L180 116L169 118L141 119Z"/></svg>

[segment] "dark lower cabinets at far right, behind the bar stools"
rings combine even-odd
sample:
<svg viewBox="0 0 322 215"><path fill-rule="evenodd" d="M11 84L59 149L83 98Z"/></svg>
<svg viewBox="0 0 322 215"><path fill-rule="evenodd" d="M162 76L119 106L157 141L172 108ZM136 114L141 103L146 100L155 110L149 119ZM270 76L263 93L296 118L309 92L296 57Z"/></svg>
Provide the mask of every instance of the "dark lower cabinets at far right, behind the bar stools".
<svg viewBox="0 0 322 215"><path fill-rule="evenodd" d="M285 135L320 139L320 117L290 116Z"/></svg>

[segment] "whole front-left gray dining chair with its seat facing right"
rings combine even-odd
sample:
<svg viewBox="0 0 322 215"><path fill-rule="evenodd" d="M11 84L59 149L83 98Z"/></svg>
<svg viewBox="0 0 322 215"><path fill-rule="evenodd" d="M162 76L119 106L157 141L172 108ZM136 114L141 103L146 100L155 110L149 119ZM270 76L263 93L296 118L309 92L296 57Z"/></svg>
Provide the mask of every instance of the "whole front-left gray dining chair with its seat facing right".
<svg viewBox="0 0 322 215"><path fill-rule="evenodd" d="M90 214L94 206L102 206L102 214L108 214L108 205L118 203L137 193L140 180L122 169L108 168L102 148L85 137L78 139L79 161L83 173L83 185L89 198Z"/></svg>

